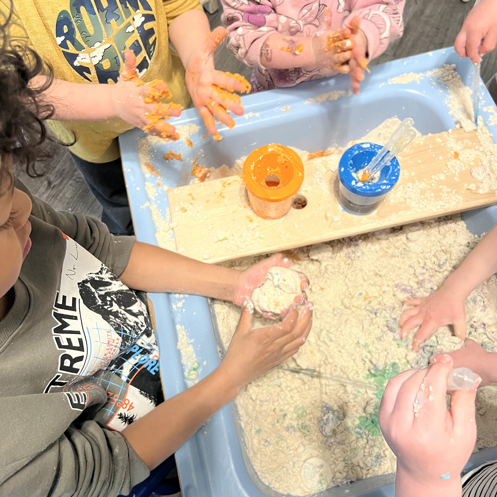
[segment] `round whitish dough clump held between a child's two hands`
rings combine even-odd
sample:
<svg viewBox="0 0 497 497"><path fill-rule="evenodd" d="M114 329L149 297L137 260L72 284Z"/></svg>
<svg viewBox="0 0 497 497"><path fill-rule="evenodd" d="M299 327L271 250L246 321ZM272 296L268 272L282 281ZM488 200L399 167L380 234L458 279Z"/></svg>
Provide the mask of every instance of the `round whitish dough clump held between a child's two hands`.
<svg viewBox="0 0 497 497"><path fill-rule="evenodd" d="M267 271L266 281L252 292L255 309L273 314L281 314L293 304L300 295L300 275L286 267L271 267Z"/></svg>

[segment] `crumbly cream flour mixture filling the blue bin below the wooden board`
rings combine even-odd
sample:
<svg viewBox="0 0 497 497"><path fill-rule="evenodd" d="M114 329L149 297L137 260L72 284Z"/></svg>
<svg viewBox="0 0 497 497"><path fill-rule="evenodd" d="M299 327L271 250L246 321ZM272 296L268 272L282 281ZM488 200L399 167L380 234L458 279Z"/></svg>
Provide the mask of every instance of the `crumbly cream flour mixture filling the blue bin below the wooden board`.
<svg viewBox="0 0 497 497"><path fill-rule="evenodd" d="M380 391L375 395L281 369L252 381L236 402L248 455L265 484L281 493L311 493L301 476L311 457L330 465L329 486L395 471L395 456L376 417L388 378L410 367L425 367L432 353L463 344L443 327L419 353L411 351L399 337L402 302L438 288L477 242L460 217L452 216L294 250L293 258L300 260L292 269L311 280L307 292L314 302L314 320L306 343L285 365L375 382ZM260 258L225 265L245 268ZM495 291L493 276L466 304L468 336L491 351L497 351ZM222 301L214 308L227 347L240 310ZM258 316L253 323L254 328L270 324ZM485 387L477 401L478 447L497 443L492 406L497 406L497 388Z"/></svg>

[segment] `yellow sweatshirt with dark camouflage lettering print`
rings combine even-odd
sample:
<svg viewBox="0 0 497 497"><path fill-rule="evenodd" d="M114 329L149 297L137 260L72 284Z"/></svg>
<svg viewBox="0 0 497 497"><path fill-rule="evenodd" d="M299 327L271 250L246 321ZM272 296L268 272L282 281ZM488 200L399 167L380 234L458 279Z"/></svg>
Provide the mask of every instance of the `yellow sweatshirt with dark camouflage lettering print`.
<svg viewBox="0 0 497 497"><path fill-rule="evenodd" d="M8 9L8 0L0 8ZM116 83L123 51L133 50L142 81L164 80L172 101L189 107L185 71L169 47L167 27L198 0L14 0L14 20L32 47L54 68L55 77L73 83ZM92 102L87 102L92 105ZM104 163L119 157L117 136L133 126L121 119L50 121L71 151L86 161Z"/></svg>

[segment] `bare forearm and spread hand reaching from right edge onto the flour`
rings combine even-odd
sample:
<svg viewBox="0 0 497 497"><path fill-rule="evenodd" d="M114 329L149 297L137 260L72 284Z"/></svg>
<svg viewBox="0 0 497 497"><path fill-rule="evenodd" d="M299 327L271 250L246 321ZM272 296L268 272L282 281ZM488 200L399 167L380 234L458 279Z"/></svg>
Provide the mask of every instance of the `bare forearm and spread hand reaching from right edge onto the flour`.
<svg viewBox="0 0 497 497"><path fill-rule="evenodd" d="M401 338L416 326L413 349L440 326L452 325L459 338L466 338L466 297L483 281L497 272L497 225L473 248L450 274L443 285L429 297L405 302L414 306L399 319Z"/></svg>

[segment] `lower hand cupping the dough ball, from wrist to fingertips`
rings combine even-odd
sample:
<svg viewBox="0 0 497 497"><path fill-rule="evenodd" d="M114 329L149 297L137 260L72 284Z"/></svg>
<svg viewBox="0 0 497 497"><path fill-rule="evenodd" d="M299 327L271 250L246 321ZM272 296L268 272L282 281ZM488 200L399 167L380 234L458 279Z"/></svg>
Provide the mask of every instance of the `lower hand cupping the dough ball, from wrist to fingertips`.
<svg viewBox="0 0 497 497"><path fill-rule="evenodd" d="M312 304L299 316L292 306L281 323L251 329L252 315L245 307L220 368L238 388L278 366L295 354L307 339L312 325Z"/></svg>

